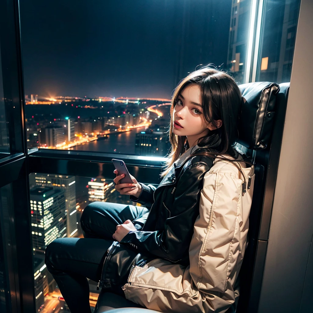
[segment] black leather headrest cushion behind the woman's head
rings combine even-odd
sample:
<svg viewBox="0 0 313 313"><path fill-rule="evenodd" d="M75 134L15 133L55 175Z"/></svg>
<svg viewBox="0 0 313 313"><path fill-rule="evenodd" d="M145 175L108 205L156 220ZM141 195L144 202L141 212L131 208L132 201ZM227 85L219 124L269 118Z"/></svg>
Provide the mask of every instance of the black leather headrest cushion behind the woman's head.
<svg viewBox="0 0 313 313"><path fill-rule="evenodd" d="M238 143L248 149L265 149L270 141L279 85L256 82L239 85L242 94Z"/></svg>

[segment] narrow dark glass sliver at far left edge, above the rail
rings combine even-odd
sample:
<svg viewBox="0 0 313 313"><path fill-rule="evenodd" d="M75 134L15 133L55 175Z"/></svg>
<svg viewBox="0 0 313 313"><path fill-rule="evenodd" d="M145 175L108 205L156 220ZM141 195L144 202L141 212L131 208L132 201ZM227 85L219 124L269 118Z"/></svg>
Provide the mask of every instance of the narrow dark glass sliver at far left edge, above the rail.
<svg viewBox="0 0 313 313"><path fill-rule="evenodd" d="M7 121L5 117L3 77L0 55L0 157L8 155L10 152Z"/></svg>

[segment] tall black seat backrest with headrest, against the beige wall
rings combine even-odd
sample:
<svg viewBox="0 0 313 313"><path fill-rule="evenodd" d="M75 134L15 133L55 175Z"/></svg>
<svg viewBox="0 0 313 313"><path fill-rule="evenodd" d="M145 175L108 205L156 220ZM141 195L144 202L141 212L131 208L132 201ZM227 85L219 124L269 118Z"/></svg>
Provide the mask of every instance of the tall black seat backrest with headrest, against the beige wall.
<svg viewBox="0 0 313 313"><path fill-rule="evenodd" d="M243 102L238 147L255 167L249 243L239 273L236 311L241 313L257 312L289 83L279 86L257 82L239 85L239 88Z"/></svg>

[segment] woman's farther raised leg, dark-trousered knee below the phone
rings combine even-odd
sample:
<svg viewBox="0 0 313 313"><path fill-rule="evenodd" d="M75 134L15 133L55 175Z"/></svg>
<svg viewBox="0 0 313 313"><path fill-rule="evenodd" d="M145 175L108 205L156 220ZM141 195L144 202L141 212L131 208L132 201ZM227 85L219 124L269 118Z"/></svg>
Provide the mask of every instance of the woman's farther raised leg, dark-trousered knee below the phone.
<svg viewBox="0 0 313 313"><path fill-rule="evenodd" d="M116 225L130 219L140 230L146 221L149 210L145 207L121 203L93 202L80 218L80 226L85 238L113 240Z"/></svg>

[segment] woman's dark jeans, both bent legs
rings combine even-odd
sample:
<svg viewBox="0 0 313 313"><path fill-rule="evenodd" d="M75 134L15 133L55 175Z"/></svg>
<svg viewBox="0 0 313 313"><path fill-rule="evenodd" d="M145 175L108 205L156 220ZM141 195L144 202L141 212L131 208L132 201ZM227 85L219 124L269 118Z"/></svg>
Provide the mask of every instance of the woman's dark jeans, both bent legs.
<svg viewBox="0 0 313 313"><path fill-rule="evenodd" d="M89 204L80 219L85 238L58 238L45 251L45 264L72 313L90 313L87 278L98 282L105 252L113 242L116 225L127 219L141 229L148 209L119 203Z"/></svg>

